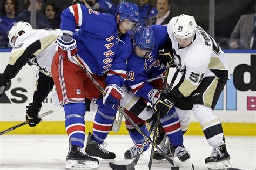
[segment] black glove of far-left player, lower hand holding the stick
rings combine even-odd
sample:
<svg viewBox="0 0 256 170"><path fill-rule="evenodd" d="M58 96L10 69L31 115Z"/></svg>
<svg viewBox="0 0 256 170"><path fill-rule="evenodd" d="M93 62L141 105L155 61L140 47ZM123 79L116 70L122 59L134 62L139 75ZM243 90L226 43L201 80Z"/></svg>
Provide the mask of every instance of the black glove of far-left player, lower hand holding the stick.
<svg viewBox="0 0 256 170"><path fill-rule="evenodd" d="M26 120L29 120L30 127L34 127L41 122L42 119L38 118L40 108L32 103L30 103L29 106L26 106Z"/></svg>

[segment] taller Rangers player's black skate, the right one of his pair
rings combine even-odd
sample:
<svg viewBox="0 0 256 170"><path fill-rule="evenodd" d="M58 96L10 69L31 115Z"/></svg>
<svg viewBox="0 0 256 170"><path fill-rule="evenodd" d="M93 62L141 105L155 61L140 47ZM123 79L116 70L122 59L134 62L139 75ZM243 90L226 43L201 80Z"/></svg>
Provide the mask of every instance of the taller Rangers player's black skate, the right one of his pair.
<svg viewBox="0 0 256 170"><path fill-rule="evenodd" d="M102 158L108 162L114 162L114 158L116 158L116 154L102 148L102 144L99 144L96 141L92 141L90 132L88 134L85 152L91 156Z"/></svg>

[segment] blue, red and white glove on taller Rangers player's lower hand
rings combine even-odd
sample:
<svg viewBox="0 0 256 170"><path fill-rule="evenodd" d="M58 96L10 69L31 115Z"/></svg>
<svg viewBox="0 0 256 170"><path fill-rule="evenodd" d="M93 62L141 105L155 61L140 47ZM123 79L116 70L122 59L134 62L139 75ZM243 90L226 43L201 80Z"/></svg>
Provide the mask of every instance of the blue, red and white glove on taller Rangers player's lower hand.
<svg viewBox="0 0 256 170"><path fill-rule="evenodd" d="M105 89L106 95L103 97L103 104L112 108L120 105L120 100L124 97L124 91L116 84L110 84Z"/></svg>

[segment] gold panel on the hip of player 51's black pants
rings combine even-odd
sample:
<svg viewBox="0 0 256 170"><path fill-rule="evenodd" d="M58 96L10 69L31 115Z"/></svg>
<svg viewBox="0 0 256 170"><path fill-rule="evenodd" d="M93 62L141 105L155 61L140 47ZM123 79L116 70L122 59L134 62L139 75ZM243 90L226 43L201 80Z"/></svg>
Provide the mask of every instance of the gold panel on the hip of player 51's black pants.
<svg viewBox="0 0 256 170"><path fill-rule="evenodd" d="M219 78L215 77L212 83L207 87L206 91L203 94L204 105L210 108L212 107L212 101L218 85L218 80Z"/></svg>

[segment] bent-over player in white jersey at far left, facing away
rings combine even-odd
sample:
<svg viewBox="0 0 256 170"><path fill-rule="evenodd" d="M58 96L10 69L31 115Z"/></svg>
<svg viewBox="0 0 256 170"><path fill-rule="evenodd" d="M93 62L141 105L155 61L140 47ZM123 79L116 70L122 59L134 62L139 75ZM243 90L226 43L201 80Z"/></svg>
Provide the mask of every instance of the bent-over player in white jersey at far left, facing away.
<svg viewBox="0 0 256 170"><path fill-rule="evenodd" d="M33 30L29 23L22 21L12 26L9 31L9 43L13 49L4 73L0 73L0 96L10 79L14 78L25 64L36 67L39 76L36 91L33 94L33 102L26 106L26 120L29 120L30 127L40 123L38 113L42 102L53 88L51 63L56 52L56 38L61 35L62 32L57 29Z"/></svg>

